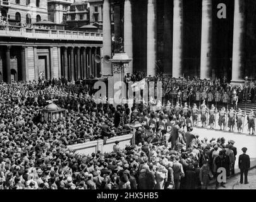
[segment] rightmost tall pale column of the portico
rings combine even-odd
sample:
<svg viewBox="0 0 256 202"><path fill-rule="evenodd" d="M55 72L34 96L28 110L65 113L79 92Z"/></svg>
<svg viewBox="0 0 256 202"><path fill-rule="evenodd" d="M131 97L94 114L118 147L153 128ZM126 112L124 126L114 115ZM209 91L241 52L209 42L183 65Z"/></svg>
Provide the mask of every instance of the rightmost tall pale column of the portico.
<svg viewBox="0 0 256 202"><path fill-rule="evenodd" d="M245 36L245 3L243 0L235 0L234 33L233 33L233 61L232 82L243 81L244 76L244 51L243 42Z"/></svg>

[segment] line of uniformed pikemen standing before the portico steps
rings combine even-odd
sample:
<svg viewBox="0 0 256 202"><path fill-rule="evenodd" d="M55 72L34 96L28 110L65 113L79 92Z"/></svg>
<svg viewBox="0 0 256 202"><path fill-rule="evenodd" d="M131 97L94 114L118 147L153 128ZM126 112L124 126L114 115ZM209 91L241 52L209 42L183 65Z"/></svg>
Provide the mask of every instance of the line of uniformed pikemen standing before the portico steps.
<svg viewBox="0 0 256 202"><path fill-rule="evenodd" d="M144 105L145 106L145 105ZM138 120L137 107L131 109L131 122ZM147 109L141 110L140 123L148 128L153 128L154 131L161 129L167 133L171 131L171 128L175 121L180 122L182 128L189 128L198 126L199 120L202 123L202 128L216 129L216 122L218 123L220 130L226 130L234 132L235 126L238 133L243 133L243 129L248 125L249 134L255 134L255 112L250 110L250 113L242 112L241 109L235 110L231 107L230 110L226 110L222 107L221 110L217 110L214 104L211 107L207 107L205 100L201 105L197 107L197 104L193 104L193 107L188 106L187 103L182 106L180 102L176 102L176 106L171 104L168 100L164 106L161 101L150 98ZM150 110L150 116L149 115ZM217 116L219 119L217 120ZM245 118L247 117L247 123Z"/></svg>

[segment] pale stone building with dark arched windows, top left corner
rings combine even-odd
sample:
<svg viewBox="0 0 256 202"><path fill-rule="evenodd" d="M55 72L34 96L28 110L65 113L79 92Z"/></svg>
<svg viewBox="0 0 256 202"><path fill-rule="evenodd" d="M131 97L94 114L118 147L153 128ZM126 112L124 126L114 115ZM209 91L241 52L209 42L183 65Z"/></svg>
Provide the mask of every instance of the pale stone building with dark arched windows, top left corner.
<svg viewBox="0 0 256 202"><path fill-rule="evenodd" d="M31 24L48 18L45 0L1 0L0 3L1 17L10 24Z"/></svg>

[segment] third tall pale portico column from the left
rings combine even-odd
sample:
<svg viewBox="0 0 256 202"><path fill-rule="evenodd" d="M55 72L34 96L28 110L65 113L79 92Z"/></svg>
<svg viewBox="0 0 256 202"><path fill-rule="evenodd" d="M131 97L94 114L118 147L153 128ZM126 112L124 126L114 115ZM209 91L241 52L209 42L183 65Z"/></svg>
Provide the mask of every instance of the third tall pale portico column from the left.
<svg viewBox="0 0 256 202"><path fill-rule="evenodd" d="M147 75L155 76L157 57L157 8L156 0L147 3Z"/></svg>

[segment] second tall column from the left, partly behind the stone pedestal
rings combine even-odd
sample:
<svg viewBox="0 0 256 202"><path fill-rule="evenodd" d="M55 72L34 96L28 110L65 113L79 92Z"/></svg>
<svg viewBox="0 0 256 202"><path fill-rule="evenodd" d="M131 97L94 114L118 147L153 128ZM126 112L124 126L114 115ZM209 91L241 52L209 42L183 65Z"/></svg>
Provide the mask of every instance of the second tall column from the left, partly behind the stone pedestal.
<svg viewBox="0 0 256 202"><path fill-rule="evenodd" d="M124 12L124 50L129 58L133 58L133 27L131 23L131 0L125 0ZM129 64L128 73L133 73L132 61Z"/></svg>

